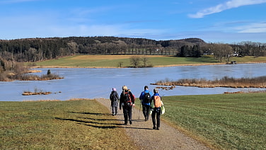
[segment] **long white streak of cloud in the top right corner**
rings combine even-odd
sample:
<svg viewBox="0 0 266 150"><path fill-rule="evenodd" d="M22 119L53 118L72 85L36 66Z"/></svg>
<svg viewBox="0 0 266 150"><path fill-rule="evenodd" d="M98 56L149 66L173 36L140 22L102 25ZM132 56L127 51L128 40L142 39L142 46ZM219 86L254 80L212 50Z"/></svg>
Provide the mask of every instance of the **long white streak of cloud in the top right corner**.
<svg viewBox="0 0 266 150"><path fill-rule="evenodd" d="M205 8L201 11L198 11L195 14L189 14L188 16L190 18L203 18L204 16L210 15L212 13L219 13L227 9L237 8L246 5L262 4L262 3L266 3L266 0L231 0L227 1L224 4L218 4L213 7Z"/></svg>

